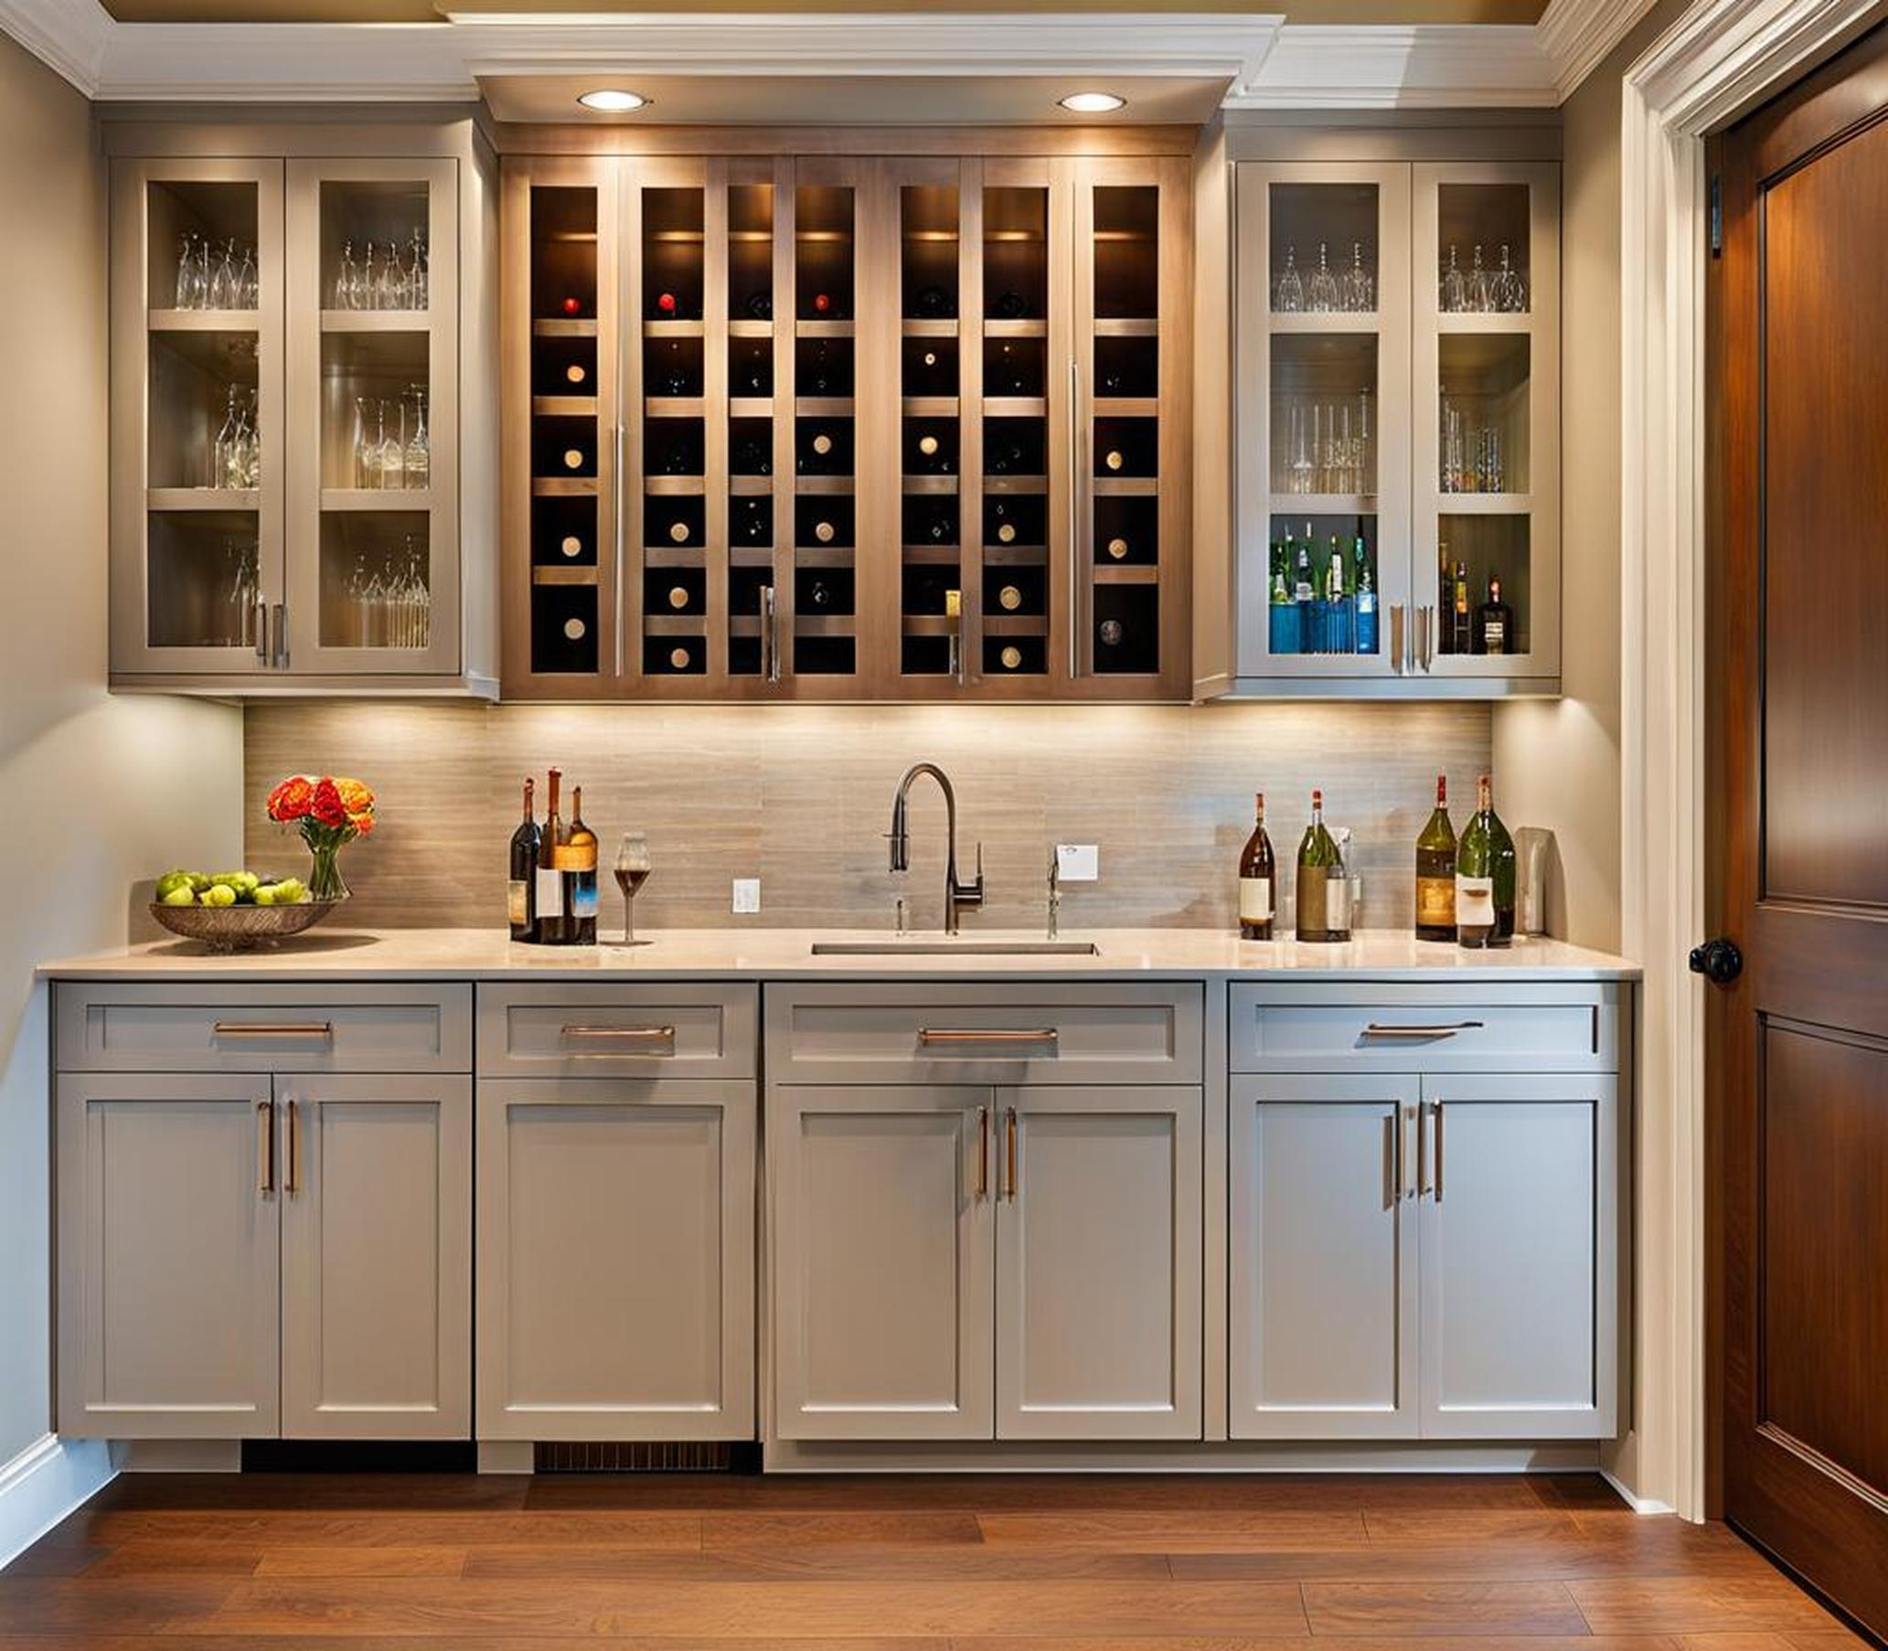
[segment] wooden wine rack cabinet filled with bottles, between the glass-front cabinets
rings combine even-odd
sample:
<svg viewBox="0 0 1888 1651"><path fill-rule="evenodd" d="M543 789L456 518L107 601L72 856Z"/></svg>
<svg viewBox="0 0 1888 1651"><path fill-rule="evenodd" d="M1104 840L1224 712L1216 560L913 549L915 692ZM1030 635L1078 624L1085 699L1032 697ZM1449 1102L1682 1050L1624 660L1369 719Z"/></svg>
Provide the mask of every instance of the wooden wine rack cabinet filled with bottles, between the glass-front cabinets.
<svg viewBox="0 0 1888 1651"><path fill-rule="evenodd" d="M506 698L1184 696L1184 177L508 157Z"/></svg>

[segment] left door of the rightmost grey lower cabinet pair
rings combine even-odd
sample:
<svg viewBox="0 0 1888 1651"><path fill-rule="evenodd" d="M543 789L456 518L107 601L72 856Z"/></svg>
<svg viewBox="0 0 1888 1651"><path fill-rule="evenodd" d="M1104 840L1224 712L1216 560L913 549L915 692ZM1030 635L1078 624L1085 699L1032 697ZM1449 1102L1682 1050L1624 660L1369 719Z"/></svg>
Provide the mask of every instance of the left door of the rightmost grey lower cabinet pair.
<svg viewBox="0 0 1888 1651"><path fill-rule="evenodd" d="M1233 1438L1414 1438L1418 1081L1246 1077L1231 1108Z"/></svg>

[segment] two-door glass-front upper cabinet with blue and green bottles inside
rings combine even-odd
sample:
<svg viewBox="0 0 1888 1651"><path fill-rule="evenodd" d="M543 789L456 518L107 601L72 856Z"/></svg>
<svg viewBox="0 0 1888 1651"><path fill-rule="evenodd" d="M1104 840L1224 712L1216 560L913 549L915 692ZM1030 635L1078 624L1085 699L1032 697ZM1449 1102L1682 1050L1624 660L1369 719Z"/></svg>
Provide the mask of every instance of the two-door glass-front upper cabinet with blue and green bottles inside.
<svg viewBox="0 0 1888 1651"><path fill-rule="evenodd" d="M1559 692L1559 164L1288 147L1233 164L1233 602L1201 691Z"/></svg>

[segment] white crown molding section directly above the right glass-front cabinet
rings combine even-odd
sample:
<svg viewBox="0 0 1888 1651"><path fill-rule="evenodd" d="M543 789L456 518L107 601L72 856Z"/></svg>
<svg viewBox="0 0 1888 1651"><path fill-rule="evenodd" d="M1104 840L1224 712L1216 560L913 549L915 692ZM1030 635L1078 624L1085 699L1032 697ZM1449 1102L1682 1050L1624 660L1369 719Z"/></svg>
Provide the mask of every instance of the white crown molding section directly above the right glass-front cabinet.
<svg viewBox="0 0 1888 1651"><path fill-rule="evenodd" d="M1286 25L1227 109L1552 108L1554 74L1526 25Z"/></svg>

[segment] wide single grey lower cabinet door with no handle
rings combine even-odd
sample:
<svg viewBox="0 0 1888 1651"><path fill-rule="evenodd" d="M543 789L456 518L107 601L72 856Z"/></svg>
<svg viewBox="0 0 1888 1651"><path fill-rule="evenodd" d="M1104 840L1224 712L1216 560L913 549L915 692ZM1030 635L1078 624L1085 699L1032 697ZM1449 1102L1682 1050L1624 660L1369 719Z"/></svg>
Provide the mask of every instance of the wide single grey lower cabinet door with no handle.
<svg viewBox="0 0 1888 1651"><path fill-rule="evenodd" d="M480 1085L480 1438L753 1436L750 1083Z"/></svg>

